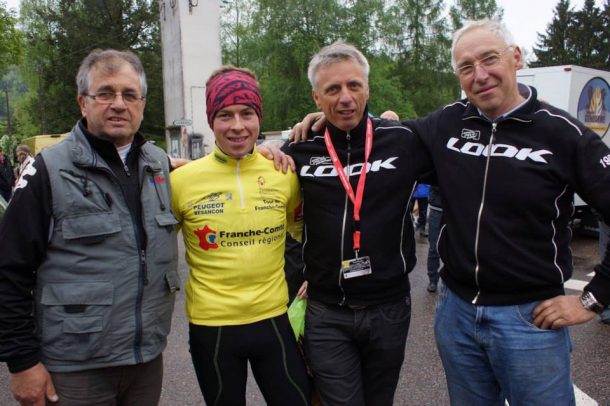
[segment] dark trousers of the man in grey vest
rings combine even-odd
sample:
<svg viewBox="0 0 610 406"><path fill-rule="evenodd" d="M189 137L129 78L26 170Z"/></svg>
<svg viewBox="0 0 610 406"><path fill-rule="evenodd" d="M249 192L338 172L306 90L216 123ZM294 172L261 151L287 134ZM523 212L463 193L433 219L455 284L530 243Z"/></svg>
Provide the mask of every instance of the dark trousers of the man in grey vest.
<svg viewBox="0 0 610 406"><path fill-rule="evenodd" d="M59 396L53 405L154 406L161 397L163 357L137 365L51 372L51 379Z"/></svg>

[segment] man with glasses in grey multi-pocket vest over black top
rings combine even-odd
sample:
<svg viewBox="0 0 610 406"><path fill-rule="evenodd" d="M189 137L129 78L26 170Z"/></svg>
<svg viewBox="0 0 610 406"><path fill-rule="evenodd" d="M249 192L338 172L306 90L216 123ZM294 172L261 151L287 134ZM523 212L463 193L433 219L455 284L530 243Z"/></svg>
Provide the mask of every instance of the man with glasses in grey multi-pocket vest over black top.
<svg viewBox="0 0 610 406"><path fill-rule="evenodd" d="M179 286L169 162L138 133L137 56L95 50L76 81L83 118L0 225L0 361L22 405L155 405Z"/></svg>

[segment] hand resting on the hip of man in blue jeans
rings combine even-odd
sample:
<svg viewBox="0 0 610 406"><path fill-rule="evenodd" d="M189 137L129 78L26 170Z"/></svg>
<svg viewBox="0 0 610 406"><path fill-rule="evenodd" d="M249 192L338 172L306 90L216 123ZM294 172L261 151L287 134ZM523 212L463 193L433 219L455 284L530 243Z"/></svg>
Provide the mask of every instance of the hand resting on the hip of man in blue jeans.
<svg viewBox="0 0 610 406"><path fill-rule="evenodd" d="M585 309L580 296L555 296L540 303L533 313L534 324L542 329L558 329L586 323L595 318L595 312Z"/></svg>

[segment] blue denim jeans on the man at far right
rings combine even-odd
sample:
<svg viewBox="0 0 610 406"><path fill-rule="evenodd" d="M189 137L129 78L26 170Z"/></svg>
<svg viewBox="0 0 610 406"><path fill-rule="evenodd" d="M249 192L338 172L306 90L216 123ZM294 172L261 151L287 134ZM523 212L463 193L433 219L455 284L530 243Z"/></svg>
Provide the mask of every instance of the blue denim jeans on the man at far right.
<svg viewBox="0 0 610 406"><path fill-rule="evenodd" d="M538 303L473 305L442 284L434 332L451 405L576 404L568 329L534 326Z"/></svg>

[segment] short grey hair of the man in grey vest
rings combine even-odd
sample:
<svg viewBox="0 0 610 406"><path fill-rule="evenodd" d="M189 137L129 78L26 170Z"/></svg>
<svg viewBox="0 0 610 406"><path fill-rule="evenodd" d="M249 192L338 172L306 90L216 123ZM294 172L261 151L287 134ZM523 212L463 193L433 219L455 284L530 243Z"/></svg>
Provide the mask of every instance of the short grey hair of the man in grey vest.
<svg viewBox="0 0 610 406"><path fill-rule="evenodd" d="M142 61L131 51L117 51L116 49L94 49L83 59L76 74L76 86L79 96L88 94L91 69L97 65L107 72L117 71L123 63L130 64L140 78L140 89L142 96L146 96L148 86L146 84L146 74Z"/></svg>

